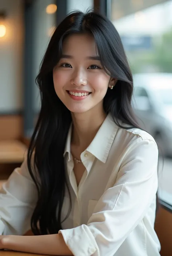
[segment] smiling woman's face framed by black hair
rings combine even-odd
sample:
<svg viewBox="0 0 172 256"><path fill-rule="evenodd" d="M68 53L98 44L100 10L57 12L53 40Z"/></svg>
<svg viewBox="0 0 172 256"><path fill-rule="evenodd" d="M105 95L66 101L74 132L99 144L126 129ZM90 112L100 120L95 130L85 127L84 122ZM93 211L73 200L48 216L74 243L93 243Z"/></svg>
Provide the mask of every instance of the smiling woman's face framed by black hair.
<svg viewBox="0 0 172 256"><path fill-rule="evenodd" d="M67 37L62 54L53 69L57 96L73 113L83 113L94 107L103 110L108 85L114 85L114 82L103 70L93 36L76 34Z"/></svg>

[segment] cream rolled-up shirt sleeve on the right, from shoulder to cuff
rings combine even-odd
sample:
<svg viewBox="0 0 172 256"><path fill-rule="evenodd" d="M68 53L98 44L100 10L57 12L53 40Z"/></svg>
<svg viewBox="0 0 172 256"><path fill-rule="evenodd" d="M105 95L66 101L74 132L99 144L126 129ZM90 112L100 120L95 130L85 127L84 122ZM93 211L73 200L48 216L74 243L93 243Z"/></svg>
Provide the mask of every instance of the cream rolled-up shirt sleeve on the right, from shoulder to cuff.
<svg viewBox="0 0 172 256"><path fill-rule="evenodd" d="M155 141L138 138L128 146L114 186L101 196L87 225L59 231L75 256L114 255L155 198L157 163Z"/></svg>

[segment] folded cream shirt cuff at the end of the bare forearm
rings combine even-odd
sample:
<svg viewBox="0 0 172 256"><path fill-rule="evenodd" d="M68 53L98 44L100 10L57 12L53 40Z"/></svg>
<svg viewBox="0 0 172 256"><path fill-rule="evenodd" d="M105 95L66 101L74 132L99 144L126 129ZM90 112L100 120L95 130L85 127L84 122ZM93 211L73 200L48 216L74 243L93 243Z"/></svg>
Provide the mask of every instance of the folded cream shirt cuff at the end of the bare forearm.
<svg viewBox="0 0 172 256"><path fill-rule="evenodd" d="M61 229L58 233L62 234L67 247L74 256L91 256L99 251L93 234L85 224L71 229Z"/></svg>

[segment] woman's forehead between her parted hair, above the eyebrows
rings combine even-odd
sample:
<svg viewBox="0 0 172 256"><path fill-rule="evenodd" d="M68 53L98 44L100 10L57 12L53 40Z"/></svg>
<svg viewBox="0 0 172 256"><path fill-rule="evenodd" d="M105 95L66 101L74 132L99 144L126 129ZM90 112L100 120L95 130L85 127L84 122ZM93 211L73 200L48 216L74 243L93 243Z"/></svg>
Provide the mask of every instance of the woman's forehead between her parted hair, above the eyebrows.
<svg viewBox="0 0 172 256"><path fill-rule="evenodd" d="M65 54L96 55L97 46L91 34L73 34L65 38L62 45L62 52Z"/></svg>

